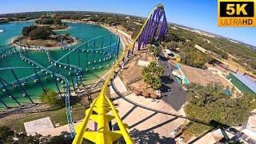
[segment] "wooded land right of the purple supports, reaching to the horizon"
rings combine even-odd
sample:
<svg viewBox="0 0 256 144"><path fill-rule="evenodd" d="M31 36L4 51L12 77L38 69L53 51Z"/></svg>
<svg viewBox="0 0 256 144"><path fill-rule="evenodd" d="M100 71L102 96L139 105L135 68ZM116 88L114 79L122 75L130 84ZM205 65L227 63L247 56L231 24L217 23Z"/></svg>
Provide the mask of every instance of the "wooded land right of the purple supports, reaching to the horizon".
<svg viewBox="0 0 256 144"><path fill-rule="evenodd" d="M234 62L244 66L247 70L250 70L256 74L256 50L253 50L239 43L230 42L224 38L208 37L204 34L198 34L193 31L184 30L178 27L173 29L171 26L168 26L168 29L169 34L167 34L166 38L164 39L164 41L168 44L168 48L169 46L176 47L178 45L179 48L186 49L188 47L194 47L197 44L206 50L212 51L216 57L223 59L230 58ZM183 53L186 52L190 51L183 50ZM201 52L198 52L197 55L204 57ZM206 59L208 59L208 62L212 61L210 58Z"/></svg>

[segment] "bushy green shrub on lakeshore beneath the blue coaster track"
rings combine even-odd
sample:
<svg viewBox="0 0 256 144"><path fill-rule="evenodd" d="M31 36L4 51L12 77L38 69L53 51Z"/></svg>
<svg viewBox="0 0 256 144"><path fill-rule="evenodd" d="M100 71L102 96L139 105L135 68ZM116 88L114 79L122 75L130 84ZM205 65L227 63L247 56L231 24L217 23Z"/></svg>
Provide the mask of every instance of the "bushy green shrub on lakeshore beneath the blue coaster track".
<svg viewBox="0 0 256 144"><path fill-rule="evenodd" d="M62 99L58 97L58 93L54 90L46 90L46 94L42 92L39 98L41 102L50 106L58 106L62 104Z"/></svg>

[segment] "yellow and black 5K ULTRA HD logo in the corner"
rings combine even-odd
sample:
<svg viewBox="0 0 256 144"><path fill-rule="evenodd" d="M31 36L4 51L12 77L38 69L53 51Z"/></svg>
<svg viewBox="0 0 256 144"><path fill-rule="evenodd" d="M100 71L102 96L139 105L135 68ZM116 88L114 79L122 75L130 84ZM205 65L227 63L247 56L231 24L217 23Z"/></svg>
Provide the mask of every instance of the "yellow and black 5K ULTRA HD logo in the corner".
<svg viewBox="0 0 256 144"><path fill-rule="evenodd" d="M256 0L218 0L218 26L256 26Z"/></svg>

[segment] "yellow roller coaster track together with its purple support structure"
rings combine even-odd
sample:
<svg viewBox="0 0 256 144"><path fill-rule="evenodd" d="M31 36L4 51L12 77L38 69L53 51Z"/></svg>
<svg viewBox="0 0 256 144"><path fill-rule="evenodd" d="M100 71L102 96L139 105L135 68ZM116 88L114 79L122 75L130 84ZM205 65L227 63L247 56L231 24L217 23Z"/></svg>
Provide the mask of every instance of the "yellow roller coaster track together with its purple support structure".
<svg viewBox="0 0 256 144"><path fill-rule="evenodd" d="M153 40L158 40L165 36L167 32L167 21L164 7L159 4L152 10L146 21L142 25L142 29L134 42L130 44L124 53L118 58L111 68L108 77L102 87L102 90L97 98L90 104L90 108L86 110L86 116L78 126L75 127L75 138L73 143L82 143L84 138L95 143L113 143L118 138L124 138L126 143L133 143L128 126L122 123L118 115L118 110L114 108L113 103L106 97L106 90L116 74L116 70L120 63L129 61L131 54L134 54L134 49L140 50L143 46ZM112 130L111 120L115 119L119 130ZM94 131L86 131L89 120L94 121Z"/></svg>

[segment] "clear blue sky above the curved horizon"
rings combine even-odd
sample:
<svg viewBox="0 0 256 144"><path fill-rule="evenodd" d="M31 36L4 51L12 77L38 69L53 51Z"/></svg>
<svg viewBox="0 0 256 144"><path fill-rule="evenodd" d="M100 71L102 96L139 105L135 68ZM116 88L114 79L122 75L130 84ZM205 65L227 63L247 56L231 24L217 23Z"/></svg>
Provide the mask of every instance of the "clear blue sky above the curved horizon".
<svg viewBox="0 0 256 144"><path fill-rule="evenodd" d="M41 10L93 10L146 17L158 3L168 22L206 30L256 46L256 27L217 26L217 0L1 0L0 14Z"/></svg>

